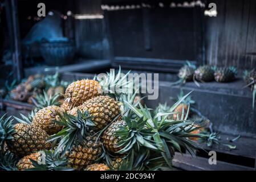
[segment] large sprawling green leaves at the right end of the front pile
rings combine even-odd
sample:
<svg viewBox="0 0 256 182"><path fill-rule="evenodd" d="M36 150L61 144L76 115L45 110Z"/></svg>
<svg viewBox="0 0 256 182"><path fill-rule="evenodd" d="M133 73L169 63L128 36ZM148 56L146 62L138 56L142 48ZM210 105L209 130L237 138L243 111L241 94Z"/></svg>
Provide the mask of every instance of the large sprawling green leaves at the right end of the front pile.
<svg viewBox="0 0 256 182"><path fill-rule="evenodd" d="M168 119L168 115L174 114L174 109L176 109L189 94L190 93L182 97L166 112L155 112L155 114L153 114L154 112L151 112L147 106L143 107L140 103L139 108L137 108L126 102L132 112L137 115L137 119L135 119L137 120L137 127L122 127L117 131L117 135L121 138L118 146L129 144L119 152L129 152L131 150L140 151L145 149L151 152L161 151L159 152L159 154L161 154L159 158L164 159L165 164L169 167L172 166L171 160L174 155L174 149L181 152L181 148L184 148L193 155L194 150L199 146L188 138L200 137L200 135L191 134L192 131L198 130L198 127L194 125L194 122L188 121L189 112L187 112L186 115L182 112L181 117L177 117L176 120ZM133 126L133 121L130 120L128 123L129 122L129 125ZM138 127L140 129L138 129ZM135 128L136 132L132 132L133 130L131 130L131 128ZM129 133L129 130L134 134ZM138 132L141 130L144 132ZM137 136L135 136L135 133L138 133ZM132 138L132 140L128 140L129 137Z"/></svg>

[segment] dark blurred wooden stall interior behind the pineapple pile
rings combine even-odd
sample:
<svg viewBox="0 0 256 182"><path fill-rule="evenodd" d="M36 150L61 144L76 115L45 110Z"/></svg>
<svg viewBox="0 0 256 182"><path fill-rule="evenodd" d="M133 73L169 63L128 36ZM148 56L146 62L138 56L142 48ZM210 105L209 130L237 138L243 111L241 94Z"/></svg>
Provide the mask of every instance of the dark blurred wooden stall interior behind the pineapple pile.
<svg viewBox="0 0 256 182"><path fill-rule="evenodd" d="M45 17L38 16L39 3ZM173 85L186 61L233 66L238 75L229 83ZM149 107L171 105L170 97L194 90L194 107L213 130L225 141L239 137L233 149L214 148L220 166L206 165L207 156L199 152L196 162L189 156L174 160L177 168L255 169L256 111L242 76L256 68L256 1L0 1L0 88L10 91L36 74L59 72L67 82L92 78L119 65L123 72L159 73L159 98L146 100ZM0 107L12 115L32 108L4 96Z"/></svg>

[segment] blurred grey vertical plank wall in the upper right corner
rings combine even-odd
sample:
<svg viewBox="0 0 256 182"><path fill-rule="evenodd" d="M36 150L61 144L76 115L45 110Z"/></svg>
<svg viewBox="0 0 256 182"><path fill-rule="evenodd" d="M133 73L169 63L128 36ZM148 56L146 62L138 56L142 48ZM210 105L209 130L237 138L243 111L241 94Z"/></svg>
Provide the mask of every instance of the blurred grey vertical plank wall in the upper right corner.
<svg viewBox="0 0 256 182"><path fill-rule="evenodd" d="M206 18L206 59L218 66L256 68L256 1L211 0L217 17Z"/></svg>

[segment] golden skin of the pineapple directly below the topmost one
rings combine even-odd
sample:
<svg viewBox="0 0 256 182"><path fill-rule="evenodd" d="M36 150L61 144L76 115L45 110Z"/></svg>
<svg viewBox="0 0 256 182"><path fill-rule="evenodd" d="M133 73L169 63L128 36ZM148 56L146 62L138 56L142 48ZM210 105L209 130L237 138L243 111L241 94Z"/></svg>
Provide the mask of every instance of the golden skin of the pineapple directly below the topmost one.
<svg viewBox="0 0 256 182"><path fill-rule="evenodd" d="M118 103L108 96L91 98L84 102L84 104L70 110L69 114L76 115L78 109L82 113L86 110L90 113L93 117L92 122L95 123L97 130L103 129L120 113Z"/></svg>

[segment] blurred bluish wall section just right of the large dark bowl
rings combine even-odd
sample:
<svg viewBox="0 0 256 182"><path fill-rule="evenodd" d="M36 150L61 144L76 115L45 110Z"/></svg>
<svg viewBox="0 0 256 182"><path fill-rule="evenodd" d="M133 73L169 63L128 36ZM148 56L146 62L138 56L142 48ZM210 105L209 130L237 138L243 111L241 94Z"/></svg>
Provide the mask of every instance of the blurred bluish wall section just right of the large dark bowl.
<svg viewBox="0 0 256 182"><path fill-rule="evenodd" d="M75 3L76 14L102 14L100 0L77 0ZM93 59L108 57L104 19L76 19L75 39L80 56Z"/></svg>

